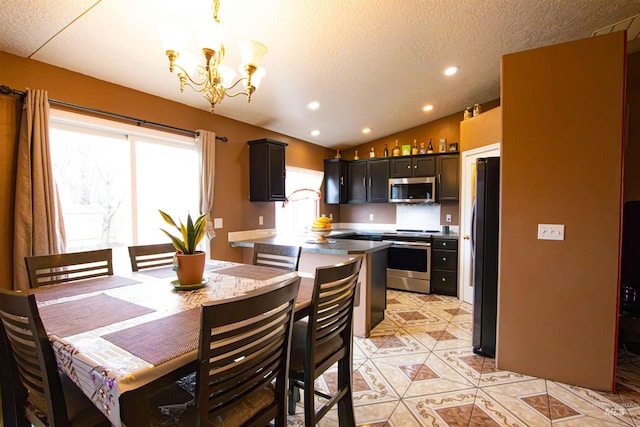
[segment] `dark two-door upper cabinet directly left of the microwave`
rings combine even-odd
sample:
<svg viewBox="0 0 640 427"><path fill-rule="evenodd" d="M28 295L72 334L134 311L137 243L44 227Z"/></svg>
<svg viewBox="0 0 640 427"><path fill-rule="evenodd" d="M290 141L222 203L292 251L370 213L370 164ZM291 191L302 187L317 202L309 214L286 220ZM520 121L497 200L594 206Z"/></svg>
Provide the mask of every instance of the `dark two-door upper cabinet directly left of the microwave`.
<svg viewBox="0 0 640 427"><path fill-rule="evenodd" d="M348 166L349 203L386 203L389 200L389 160L363 160Z"/></svg>

